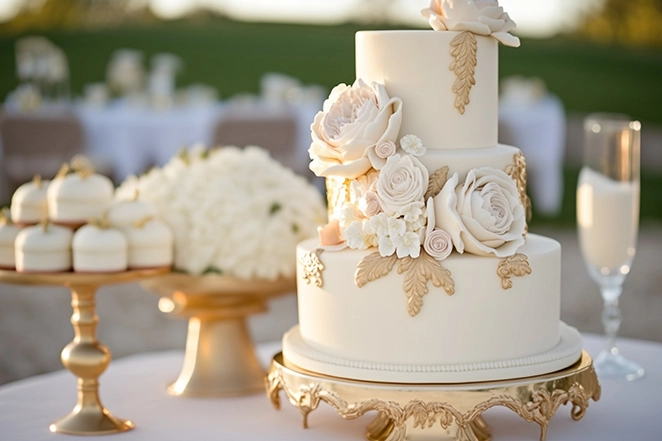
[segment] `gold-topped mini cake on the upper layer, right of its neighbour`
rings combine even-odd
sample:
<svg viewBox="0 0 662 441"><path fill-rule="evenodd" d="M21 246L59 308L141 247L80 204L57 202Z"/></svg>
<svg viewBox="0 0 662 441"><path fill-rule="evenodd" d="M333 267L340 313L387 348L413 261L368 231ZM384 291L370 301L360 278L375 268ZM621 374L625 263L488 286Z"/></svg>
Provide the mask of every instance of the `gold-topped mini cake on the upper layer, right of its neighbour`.
<svg viewBox="0 0 662 441"><path fill-rule="evenodd" d="M79 227L106 213L113 192L110 179L94 173L85 160L74 159L71 167L64 165L48 186L49 218L57 224Z"/></svg>

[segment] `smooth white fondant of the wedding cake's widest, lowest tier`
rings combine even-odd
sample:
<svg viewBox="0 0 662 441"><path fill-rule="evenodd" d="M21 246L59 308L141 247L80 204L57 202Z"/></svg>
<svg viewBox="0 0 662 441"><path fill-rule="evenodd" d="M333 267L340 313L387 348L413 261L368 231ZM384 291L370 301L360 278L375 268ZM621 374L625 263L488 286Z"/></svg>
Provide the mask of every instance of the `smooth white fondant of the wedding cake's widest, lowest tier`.
<svg viewBox="0 0 662 441"><path fill-rule="evenodd" d="M324 251L322 283L308 283L302 262L317 239L297 248L299 325L303 341L331 357L367 363L433 365L517 359L554 348L559 342L561 247L528 234L518 253L531 273L512 276L504 289L497 273L503 259L453 253L442 266L455 293L428 283L429 293L414 316L408 314L404 274L396 266L361 288L358 263L374 253Z"/></svg>

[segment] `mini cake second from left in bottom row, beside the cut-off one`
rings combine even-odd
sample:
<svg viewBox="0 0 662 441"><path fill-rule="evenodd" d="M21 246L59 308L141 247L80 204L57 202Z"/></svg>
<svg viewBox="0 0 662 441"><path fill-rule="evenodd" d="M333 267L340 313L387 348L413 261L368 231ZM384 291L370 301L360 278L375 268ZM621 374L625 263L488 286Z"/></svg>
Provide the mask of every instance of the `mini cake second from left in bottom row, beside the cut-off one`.
<svg viewBox="0 0 662 441"><path fill-rule="evenodd" d="M69 228L44 222L21 230L16 236L16 271L57 273L71 269Z"/></svg>

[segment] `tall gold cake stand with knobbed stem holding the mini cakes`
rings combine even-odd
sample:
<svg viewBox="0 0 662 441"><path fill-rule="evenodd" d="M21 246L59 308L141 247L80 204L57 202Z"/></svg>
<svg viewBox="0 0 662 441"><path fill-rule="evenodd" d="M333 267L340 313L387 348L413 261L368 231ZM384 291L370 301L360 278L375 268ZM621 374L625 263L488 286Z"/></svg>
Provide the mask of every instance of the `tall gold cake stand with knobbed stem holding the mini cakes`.
<svg viewBox="0 0 662 441"><path fill-rule="evenodd" d="M99 287L133 282L165 274L168 268L121 273L19 273L0 270L0 282L15 285L64 286L71 290L74 339L64 347L62 364L78 377L76 406L68 415L49 426L51 432L71 435L106 435L134 428L129 420L119 419L99 399L99 376L110 364L107 346L96 338L99 317L95 313L95 294Z"/></svg>

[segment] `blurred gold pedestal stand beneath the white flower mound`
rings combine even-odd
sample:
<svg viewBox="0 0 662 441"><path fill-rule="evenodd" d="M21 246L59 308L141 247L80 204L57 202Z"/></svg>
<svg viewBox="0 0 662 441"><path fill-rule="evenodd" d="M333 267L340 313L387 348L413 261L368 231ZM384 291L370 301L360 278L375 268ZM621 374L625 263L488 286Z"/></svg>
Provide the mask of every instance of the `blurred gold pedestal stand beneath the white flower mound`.
<svg viewBox="0 0 662 441"><path fill-rule="evenodd" d="M162 312L189 320L184 365L168 387L170 394L223 397L264 391L265 371L246 318L266 311L268 299L293 292L294 278L242 280L171 273L142 285L162 296Z"/></svg>

